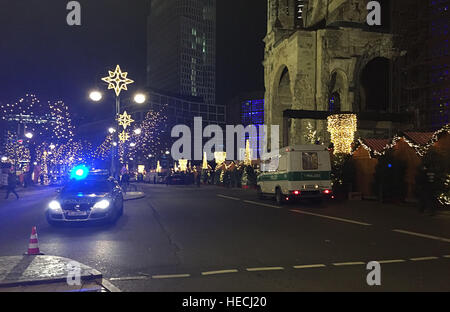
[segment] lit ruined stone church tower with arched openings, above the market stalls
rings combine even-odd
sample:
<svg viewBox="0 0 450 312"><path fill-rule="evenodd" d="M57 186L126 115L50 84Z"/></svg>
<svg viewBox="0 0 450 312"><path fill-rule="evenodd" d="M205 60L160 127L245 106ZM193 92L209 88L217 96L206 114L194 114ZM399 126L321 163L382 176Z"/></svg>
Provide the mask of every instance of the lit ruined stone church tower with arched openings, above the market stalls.
<svg viewBox="0 0 450 312"><path fill-rule="evenodd" d="M283 146L305 144L308 123L328 137L325 120L287 120L285 110L327 111L330 94L337 94L340 111L366 111L363 69L397 54L391 34L367 26L367 2L268 0L265 122L280 125Z"/></svg>

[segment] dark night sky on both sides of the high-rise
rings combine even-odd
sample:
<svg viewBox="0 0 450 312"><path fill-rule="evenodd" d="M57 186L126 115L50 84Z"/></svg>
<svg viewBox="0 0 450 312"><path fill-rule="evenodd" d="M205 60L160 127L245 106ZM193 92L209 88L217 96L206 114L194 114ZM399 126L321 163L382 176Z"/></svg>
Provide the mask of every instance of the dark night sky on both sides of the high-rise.
<svg viewBox="0 0 450 312"><path fill-rule="evenodd" d="M149 1L80 0L82 25L73 27L66 24L68 2L0 0L0 102L32 92L64 100L78 122L104 119L112 104L87 96L104 88L108 69L128 71L136 81L131 92L145 86ZM217 102L225 104L264 88L266 1L217 2Z"/></svg>

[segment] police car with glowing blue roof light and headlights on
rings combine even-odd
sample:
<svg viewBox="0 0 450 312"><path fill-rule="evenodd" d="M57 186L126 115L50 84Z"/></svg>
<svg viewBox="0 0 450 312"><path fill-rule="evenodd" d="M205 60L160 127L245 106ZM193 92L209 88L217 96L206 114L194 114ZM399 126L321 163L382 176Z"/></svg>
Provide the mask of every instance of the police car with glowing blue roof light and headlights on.
<svg viewBox="0 0 450 312"><path fill-rule="evenodd" d="M69 181L47 205L51 225L87 221L115 222L123 214L123 193L119 184L103 170L75 167Z"/></svg>

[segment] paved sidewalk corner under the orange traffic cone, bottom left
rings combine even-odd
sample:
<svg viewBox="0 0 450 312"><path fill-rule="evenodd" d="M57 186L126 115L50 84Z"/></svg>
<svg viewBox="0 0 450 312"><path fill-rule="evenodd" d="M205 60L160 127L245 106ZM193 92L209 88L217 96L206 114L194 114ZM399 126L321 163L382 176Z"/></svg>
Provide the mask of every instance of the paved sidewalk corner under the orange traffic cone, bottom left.
<svg viewBox="0 0 450 312"><path fill-rule="evenodd" d="M0 292L102 292L102 274L84 264L80 268L80 285L68 285L67 277L73 260L56 256L0 257ZM114 291L114 290L113 290Z"/></svg>

